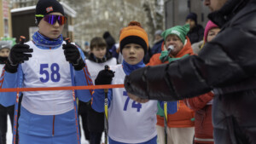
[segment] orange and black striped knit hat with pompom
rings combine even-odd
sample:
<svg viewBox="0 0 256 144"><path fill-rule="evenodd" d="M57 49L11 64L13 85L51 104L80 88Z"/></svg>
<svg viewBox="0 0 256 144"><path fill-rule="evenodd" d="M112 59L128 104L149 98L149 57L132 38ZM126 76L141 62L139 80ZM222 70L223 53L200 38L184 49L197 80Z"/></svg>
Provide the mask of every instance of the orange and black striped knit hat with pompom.
<svg viewBox="0 0 256 144"><path fill-rule="evenodd" d="M121 53L126 44L137 43L143 47L146 55L148 51L148 34L139 22L131 21L127 27L121 30L119 43Z"/></svg>

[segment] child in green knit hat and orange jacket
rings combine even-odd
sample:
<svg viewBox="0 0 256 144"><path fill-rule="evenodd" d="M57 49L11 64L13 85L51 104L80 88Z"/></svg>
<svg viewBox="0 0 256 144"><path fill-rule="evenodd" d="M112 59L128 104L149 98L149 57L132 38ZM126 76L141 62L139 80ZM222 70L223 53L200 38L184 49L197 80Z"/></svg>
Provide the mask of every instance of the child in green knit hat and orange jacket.
<svg viewBox="0 0 256 144"><path fill-rule="evenodd" d="M163 63L168 63L173 60L181 59L186 55L194 55L189 37L186 37L189 32L189 25L174 26L162 32L164 37L162 51L151 57L148 66L157 66ZM167 50L168 48L172 50ZM168 106L167 102L167 106ZM163 106L161 106L163 108ZM167 108L169 112L169 107ZM179 101L179 109L174 114L167 114L167 142L168 144L175 143L191 143L194 136L194 115L195 112L190 110L183 101ZM165 143L164 136L164 117L163 114L157 115L157 132L160 143Z"/></svg>

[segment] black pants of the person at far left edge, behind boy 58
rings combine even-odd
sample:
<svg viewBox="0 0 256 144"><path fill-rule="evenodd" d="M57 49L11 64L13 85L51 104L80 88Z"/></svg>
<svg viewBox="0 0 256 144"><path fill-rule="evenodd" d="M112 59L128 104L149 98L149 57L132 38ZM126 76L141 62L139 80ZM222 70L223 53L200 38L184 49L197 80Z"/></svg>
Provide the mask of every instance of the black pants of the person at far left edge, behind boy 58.
<svg viewBox="0 0 256 144"><path fill-rule="evenodd" d="M15 115L15 106L3 107L0 105L0 133L3 144L6 144L6 133L7 133L7 117L11 120L13 127L14 124L14 115Z"/></svg>

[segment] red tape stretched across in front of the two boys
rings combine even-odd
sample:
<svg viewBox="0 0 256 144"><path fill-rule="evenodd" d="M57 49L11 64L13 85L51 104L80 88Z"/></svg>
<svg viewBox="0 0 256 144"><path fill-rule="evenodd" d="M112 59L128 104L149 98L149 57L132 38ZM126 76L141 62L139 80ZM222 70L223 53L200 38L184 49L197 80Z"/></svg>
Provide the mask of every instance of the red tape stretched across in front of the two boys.
<svg viewBox="0 0 256 144"><path fill-rule="evenodd" d="M113 88L124 88L124 87L125 87L124 84L109 84L109 85L47 87L47 88L8 88L8 89L0 89L0 92L73 90L73 89L113 89Z"/></svg>

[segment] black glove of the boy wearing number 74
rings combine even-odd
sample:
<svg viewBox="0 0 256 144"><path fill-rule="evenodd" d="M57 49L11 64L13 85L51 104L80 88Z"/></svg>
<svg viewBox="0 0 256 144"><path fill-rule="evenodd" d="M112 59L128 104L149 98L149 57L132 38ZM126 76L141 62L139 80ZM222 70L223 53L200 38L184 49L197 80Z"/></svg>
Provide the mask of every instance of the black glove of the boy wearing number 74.
<svg viewBox="0 0 256 144"><path fill-rule="evenodd" d="M95 79L96 85L111 84L114 72L108 69L102 70L98 73Z"/></svg>

